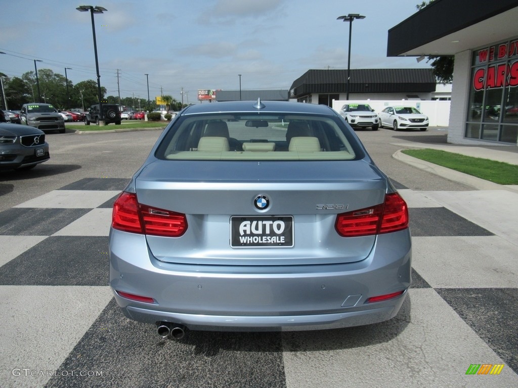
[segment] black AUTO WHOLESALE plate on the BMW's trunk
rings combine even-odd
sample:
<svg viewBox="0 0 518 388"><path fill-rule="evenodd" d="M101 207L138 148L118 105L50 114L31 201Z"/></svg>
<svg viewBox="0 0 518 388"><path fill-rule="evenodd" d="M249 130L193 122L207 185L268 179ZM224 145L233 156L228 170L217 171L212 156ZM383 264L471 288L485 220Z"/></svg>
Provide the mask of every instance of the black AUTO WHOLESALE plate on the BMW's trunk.
<svg viewBox="0 0 518 388"><path fill-rule="evenodd" d="M293 247L293 216L232 216L230 225L232 248Z"/></svg>

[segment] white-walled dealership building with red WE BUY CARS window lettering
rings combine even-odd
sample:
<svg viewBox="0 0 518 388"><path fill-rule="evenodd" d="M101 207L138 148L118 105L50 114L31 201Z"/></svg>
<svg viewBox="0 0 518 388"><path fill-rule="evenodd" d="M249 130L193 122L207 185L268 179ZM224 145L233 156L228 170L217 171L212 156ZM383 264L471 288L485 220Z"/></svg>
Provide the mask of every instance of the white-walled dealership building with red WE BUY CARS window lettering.
<svg viewBox="0 0 518 388"><path fill-rule="evenodd" d="M387 56L453 55L448 142L518 142L518 0L436 0L389 30Z"/></svg>

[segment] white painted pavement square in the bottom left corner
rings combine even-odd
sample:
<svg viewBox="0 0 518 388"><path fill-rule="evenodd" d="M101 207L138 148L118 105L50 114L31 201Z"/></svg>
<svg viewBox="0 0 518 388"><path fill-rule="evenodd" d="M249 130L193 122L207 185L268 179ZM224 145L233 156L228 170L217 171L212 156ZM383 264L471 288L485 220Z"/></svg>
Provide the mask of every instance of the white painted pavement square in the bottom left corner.
<svg viewBox="0 0 518 388"><path fill-rule="evenodd" d="M13 369L59 368L112 296L108 286L0 286L2 386L44 386L50 376Z"/></svg>

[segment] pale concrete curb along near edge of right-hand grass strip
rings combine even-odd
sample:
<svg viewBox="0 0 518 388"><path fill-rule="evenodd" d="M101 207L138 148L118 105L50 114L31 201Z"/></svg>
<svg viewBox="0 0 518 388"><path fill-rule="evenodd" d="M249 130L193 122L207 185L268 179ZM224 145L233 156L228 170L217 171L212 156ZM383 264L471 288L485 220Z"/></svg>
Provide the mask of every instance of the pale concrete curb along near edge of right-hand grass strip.
<svg viewBox="0 0 518 388"><path fill-rule="evenodd" d="M477 178L476 176L472 176L469 174L465 174L463 172L458 172L455 170L451 170L446 167L434 165L434 163L430 163L418 158L414 158L413 156L406 155L401 152L402 150L396 151L392 157L407 163L410 166L416 167L418 169L430 172L435 175L442 176L453 182L458 182L465 184L467 186L473 187L477 190L507 190L512 192L518 192L518 187L516 186L506 186L499 185L497 183L493 183L490 181L483 180L481 178Z"/></svg>

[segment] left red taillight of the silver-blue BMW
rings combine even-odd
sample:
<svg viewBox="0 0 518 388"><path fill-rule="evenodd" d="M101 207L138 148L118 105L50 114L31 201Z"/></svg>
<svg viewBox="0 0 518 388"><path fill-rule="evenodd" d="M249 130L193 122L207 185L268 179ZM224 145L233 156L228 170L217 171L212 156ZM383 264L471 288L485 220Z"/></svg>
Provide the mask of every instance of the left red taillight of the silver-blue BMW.
<svg viewBox="0 0 518 388"><path fill-rule="evenodd" d="M154 236L179 237L187 230L184 214L139 204L134 193L123 192L113 204L113 229Z"/></svg>

